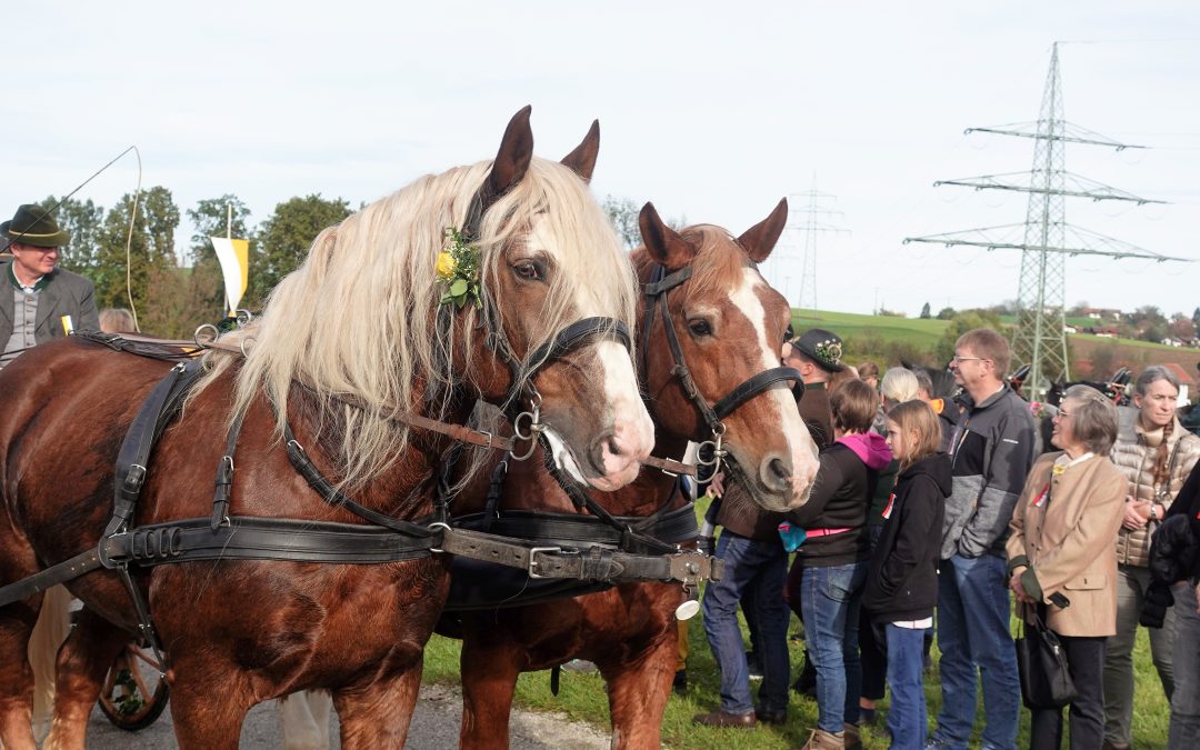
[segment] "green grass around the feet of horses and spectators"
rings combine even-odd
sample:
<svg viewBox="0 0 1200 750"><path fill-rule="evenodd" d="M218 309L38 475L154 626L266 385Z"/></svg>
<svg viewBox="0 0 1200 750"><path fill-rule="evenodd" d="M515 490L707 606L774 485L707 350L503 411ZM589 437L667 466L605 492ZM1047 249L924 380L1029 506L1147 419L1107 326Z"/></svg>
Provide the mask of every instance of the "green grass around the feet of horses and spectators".
<svg viewBox="0 0 1200 750"><path fill-rule="evenodd" d="M698 509L703 512L703 509ZM790 691L791 704L788 720L781 727L760 726L755 730L714 730L691 725L695 714L714 710L719 707L720 676L713 661L713 654L704 638L703 623L700 614L689 622L690 654L688 658L689 685L685 696L672 695L662 722L662 742L667 748L679 750L749 750L798 748L808 739L809 730L816 726L816 702L802 698ZM802 662L803 643L796 640L799 623L793 617L790 629L788 649L794 676ZM743 623L743 637L745 624ZM458 682L460 643L449 638L434 636L425 652L425 682L456 684ZM935 647L935 659L937 652ZM1158 750L1166 746L1166 727L1170 712L1158 674L1150 659L1150 644L1146 630L1139 629L1138 644L1134 652L1136 701L1134 706L1134 748L1139 750ZM755 688L756 689L756 688ZM929 708L930 726L941 706L941 689L936 670L925 680L925 700ZM558 696L550 692L550 672L530 672L522 674L517 682L516 702L532 709L564 712L572 719L588 721L602 731L608 730L608 700L604 680L595 673L562 673ZM878 704L878 727L886 724L888 703ZM983 718L983 706L979 707L979 719ZM1018 746L1028 746L1028 712L1021 712L1021 730ZM978 728L974 742L978 743ZM887 737L882 730L864 728L863 744L870 749L887 748Z"/></svg>

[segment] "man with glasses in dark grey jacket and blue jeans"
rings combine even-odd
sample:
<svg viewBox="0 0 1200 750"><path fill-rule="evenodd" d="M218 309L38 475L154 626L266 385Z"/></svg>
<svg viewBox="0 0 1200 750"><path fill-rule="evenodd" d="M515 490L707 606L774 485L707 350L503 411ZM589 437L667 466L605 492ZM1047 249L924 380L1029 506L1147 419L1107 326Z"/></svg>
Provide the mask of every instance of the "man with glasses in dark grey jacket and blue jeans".
<svg viewBox="0 0 1200 750"><path fill-rule="evenodd" d="M980 682L983 748L1016 745L1021 690L1004 542L1033 466L1033 418L1004 380L1008 361L1008 342L988 329L960 336L950 361L964 408L948 440L954 485L946 502L937 593L942 712L929 748L967 748Z"/></svg>

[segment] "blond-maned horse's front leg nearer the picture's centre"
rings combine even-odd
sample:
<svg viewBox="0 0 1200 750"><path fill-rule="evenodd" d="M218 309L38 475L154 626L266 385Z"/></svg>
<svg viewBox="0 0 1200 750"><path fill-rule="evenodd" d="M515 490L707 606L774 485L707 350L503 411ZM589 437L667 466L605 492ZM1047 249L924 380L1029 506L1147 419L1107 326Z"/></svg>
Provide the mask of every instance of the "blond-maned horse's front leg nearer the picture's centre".
<svg viewBox="0 0 1200 750"><path fill-rule="evenodd" d="M342 750L401 750L421 689L421 660L386 679L334 694Z"/></svg>

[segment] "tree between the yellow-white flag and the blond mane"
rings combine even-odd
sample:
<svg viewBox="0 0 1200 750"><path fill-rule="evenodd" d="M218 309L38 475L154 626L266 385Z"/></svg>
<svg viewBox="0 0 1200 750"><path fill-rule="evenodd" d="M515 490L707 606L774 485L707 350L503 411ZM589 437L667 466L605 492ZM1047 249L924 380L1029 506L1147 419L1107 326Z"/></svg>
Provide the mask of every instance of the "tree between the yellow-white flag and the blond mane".
<svg viewBox="0 0 1200 750"><path fill-rule="evenodd" d="M346 200L326 200L319 193L275 206L258 229L258 241L251 246L247 305L260 306L275 284L300 265L320 230L350 214Z"/></svg>

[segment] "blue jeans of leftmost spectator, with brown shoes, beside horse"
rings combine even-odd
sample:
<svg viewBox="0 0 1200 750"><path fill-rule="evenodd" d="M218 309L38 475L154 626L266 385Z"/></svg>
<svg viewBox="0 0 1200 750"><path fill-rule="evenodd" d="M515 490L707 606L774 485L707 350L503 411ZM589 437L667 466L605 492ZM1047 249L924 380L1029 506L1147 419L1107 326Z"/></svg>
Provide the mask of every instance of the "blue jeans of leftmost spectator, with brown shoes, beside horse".
<svg viewBox="0 0 1200 750"><path fill-rule="evenodd" d="M746 714L755 706L750 698L745 644L738 628L738 602L746 587L754 587L754 611L758 619L762 685L760 704L767 710L787 709L787 618L784 580L787 553L775 538L755 541L728 529L716 540L716 557L725 560L725 576L704 589L704 634L713 658L721 670L721 710Z"/></svg>

